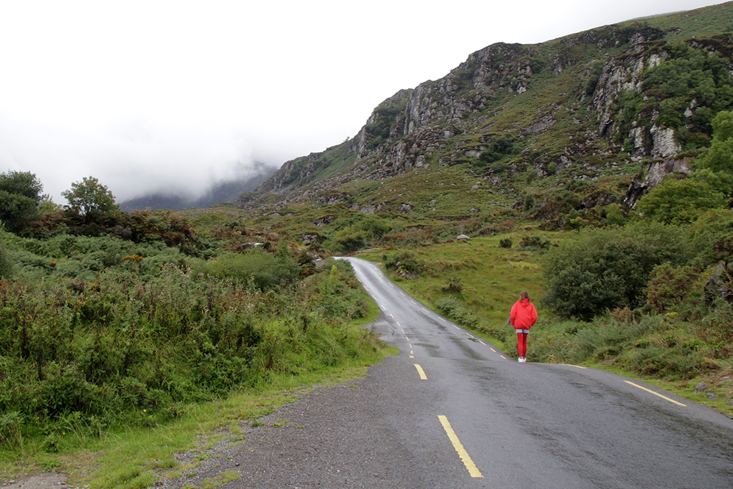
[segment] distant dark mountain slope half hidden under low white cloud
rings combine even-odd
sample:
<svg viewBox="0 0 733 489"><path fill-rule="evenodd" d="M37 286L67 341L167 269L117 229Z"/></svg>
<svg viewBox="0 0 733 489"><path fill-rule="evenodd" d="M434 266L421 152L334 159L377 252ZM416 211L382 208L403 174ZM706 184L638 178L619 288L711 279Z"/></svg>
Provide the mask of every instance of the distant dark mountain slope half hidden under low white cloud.
<svg viewBox="0 0 733 489"><path fill-rule="evenodd" d="M219 202L233 202L241 194L253 191L257 186L265 183L274 172L274 168L261 166L254 176L218 183L200 197L161 192L126 200L119 207L128 212L136 209L142 210L146 207L161 210L181 210L186 207L209 207Z"/></svg>

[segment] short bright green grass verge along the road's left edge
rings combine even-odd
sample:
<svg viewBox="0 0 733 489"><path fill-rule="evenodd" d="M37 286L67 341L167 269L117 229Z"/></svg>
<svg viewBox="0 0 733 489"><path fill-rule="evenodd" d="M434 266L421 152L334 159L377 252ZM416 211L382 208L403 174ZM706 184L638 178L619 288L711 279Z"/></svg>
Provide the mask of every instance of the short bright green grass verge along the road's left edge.
<svg viewBox="0 0 733 489"><path fill-rule="evenodd" d="M380 311L369 303L367 318L355 320L348 328L369 328ZM199 435L237 420L257 419L279 406L298 400L314 385L341 383L366 375L371 364L394 354L381 345L369 358L348 359L337 367L303 372L298 375L273 375L267 384L235 391L226 399L185 406L185 415L153 427L123 427L100 430L89 437L73 420L68 423L64 450L48 453L37 441L26 441L17 449L0 449L0 474L3 479L21 477L43 470L67 474L68 483L89 488L147 488L161 469L180 465L175 454L196 446Z"/></svg>

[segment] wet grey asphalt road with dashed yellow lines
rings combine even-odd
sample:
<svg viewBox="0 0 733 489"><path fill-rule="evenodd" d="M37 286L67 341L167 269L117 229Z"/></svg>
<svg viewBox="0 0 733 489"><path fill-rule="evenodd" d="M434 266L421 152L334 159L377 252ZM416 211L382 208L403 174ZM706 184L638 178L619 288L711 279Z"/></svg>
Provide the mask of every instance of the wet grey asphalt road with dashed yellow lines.
<svg viewBox="0 0 733 489"><path fill-rule="evenodd" d="M519 364L349 260L400 355L245 426L166 487L733 488L726 416L609 372Z"/></svg>

